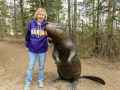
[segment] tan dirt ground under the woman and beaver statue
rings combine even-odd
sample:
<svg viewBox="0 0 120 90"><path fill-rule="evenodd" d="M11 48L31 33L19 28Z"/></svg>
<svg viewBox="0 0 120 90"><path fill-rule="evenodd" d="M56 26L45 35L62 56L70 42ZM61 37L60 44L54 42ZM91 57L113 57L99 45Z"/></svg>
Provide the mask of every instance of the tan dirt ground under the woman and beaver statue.
<svg viewBox="0 0 120 90"><path fill-rule="evenodd" d="M70 82L60 80L49 84L57 77L57 70L52 59L53 45L49 46L45 62L45 87L37 83L38 62L33 72L30 90L69 90ZM94 75L105 80L106 85L97 84L88 79L79 79L77 90L120 90L120 63L108 62L98 58L81 59L82 75ZM28 51L23 42L0 42L0 90L23 90L28 68Z"/></svg>

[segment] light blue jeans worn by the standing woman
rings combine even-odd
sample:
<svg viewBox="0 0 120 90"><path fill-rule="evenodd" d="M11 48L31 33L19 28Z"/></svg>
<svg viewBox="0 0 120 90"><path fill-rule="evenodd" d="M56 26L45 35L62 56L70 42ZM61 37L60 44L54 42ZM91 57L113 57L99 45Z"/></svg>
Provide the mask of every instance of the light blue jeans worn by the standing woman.
<svg viewBox="0 0 120 90"><path fill-rule="evenodd" d="M46 52L43 52L43 53L29 52L28 56L29 56L29 66L28 66L28 70L27 70L26 83L31 83L31 81L32 81L32 72L33 72L37 57L38 57L38 63L39 63L38 82L43 81L43 79L44 79L44 62L46 59Z"/></svg>

